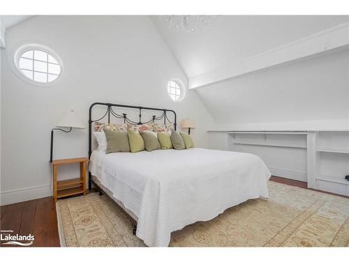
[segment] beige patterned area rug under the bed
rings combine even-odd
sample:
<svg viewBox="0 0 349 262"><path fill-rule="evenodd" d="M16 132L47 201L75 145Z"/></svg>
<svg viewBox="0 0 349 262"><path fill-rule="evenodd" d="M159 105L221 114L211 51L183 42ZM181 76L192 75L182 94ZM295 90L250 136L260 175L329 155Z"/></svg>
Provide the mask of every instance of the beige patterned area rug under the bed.
<svg viewBox="0 0 349 262"><path fill-rule="evenodd" d="M110 198L57 202L66 247L142 247ZM269 182L269 199L246 201L215 219L172 233L172 247L348 247L349 199Z"/></svg>

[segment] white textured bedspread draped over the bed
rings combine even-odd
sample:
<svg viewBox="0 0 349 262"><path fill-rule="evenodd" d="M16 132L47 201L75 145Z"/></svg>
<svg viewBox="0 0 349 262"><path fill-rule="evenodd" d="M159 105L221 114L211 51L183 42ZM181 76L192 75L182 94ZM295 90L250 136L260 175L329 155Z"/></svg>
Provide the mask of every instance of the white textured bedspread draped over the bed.
<svg viewBox="0 0 349 262"><path fill-rule="evenodd" d="M165 247L170 234L213 219L251 198L268 197L270 172L253 154L205 150L94 151L89 169L138 217L136 235Z"/></svg>

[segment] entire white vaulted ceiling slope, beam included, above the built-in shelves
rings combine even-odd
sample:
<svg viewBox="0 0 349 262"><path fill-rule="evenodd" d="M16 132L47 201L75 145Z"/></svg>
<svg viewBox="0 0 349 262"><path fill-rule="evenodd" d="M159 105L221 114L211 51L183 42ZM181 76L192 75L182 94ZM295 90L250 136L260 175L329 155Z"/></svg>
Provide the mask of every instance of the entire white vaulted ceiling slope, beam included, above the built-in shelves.
<svg viewBox="0 0 349 262"><path fill-rule="evenodd" d="M348 15L219 16L194 34L151 21L212 130L348 128Z"/></svg>

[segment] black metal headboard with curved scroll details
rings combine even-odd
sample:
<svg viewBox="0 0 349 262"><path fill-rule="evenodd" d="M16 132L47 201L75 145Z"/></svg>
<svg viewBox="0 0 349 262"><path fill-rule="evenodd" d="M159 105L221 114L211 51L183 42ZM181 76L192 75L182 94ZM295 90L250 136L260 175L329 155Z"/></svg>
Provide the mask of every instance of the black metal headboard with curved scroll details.
<svg viewBox="0 0 349 262"><path fill-rule="evenodd" d="M98 118L98 119L92 119L92 109L94 108L95 105L105 105L107 107L107 110L105 112L105 114L103 115L103 117ZM131 120L128 115L126 113L117 113L115 112L115 110L113 108L135 108L139 110L139 115L138 115L138 122ZM142 110L151 110L151 111L160 111L162 112L162 115L160 116L156 116L153 115L151 117L151 119L142 122ZM174 122L171 122L168 119L168 112L172 112L174 115ZM124 123L128 123L128 124L148 124L151 122L155 122L158 120L163 119L163 123L166 124L166 121L168 121L169 123L174 124L174 130L177 129L177 115L176 112L174 112L174 110L170 110L170 109L161 109L161 108L147 108L144 106L136 106L136 105L119 105L116 103L100 103L100 102L96 102L93 103L90 107L89 107L89 157L91 157L91 153L92 153L92 123L93 122L98 122L99 120L103 119L104 117L107 116L107 122L108 124L110 123L110 116L116 117L116 118L120 118L120 119L124 119ZM89 172L89 190L91 190L91 173Z"/></svg>

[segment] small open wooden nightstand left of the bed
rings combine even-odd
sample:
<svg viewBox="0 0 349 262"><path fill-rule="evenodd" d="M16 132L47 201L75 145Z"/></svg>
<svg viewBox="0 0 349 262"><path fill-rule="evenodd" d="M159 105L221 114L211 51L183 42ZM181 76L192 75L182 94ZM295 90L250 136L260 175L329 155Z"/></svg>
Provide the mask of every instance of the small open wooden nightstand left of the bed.
<svg viewBox="0 0 349 262"><path fill-rule="evenodd" d="M76 159L57 159L52 161L52 175L53 175L53 197L54 202L57 198L65 196L74 196L77 194L86 194L86 169L87 157L79 157ZM69 163L80 163L80 177L70 180L57 181L57 166L66 165Z"/></svg>

